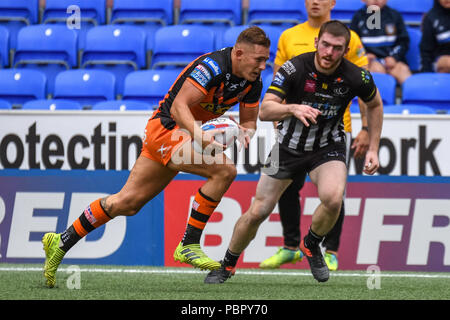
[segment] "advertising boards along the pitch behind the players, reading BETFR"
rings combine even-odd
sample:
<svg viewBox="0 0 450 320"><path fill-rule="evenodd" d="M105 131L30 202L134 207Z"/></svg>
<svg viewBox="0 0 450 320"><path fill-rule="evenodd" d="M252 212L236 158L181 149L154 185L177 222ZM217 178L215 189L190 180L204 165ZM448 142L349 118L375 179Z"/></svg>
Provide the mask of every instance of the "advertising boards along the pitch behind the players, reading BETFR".
<svg viewBox="0 0 450 320"><path fill-rule="evenodd" d="M141 146L145 112L3 111L0 113L0 263L43 262L40 239L63 231L99 197L125 183ZM340 268L450 271L450 117L385 115L382 174L361 175L351 161ZM360 127L357 115L353 127ZM221 259L236 219L249 207L259 168L274 140L261 123L247 152L236 155L238 177L210 219L202 245ZM67 255L71 264L177 266L172 259L201 186L180 174L134 217L89 234ZM318 203L311 182L301 192L302 233ZM257 267L282 245L277 208L243 254ZM293 268L307 268L300 263Z"/></svg>

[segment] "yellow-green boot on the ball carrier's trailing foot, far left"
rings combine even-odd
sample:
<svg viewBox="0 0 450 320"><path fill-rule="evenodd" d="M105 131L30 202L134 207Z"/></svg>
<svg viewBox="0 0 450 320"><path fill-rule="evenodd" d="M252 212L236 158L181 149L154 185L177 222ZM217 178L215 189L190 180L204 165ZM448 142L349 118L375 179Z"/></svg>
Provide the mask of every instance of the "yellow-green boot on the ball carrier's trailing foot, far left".
<svg viewBox="0 0 450 320"><path fill-rule="evenodd" d="M56 282L56 270L58 270L64 255L66 254L59 248L61 235L58 233L46 233L42 237L42 244L45 251L44 277L49 288L53 288Z"/></svg>

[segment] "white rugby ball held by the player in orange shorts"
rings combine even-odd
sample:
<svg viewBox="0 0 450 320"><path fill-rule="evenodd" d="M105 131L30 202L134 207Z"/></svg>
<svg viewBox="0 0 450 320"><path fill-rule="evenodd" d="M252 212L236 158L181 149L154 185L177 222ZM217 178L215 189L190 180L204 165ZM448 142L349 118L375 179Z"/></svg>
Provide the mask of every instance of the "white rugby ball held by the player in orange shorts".
<svg viewBox="0 0 450 320"><path fill-rule="evenodd" d="M227 146L227 149L231 147L234 143L235 138L239 135L239 127L231 119L221 117L209 120L202 124L200 127L203 131L209 131L209 130L215 130L220 129L223 130L223 133L218 133L214 136L214 139ZM198 144L196 141L193 142L194 150L198 153L203 153L202 147L200 144ZM224 149L223 151L225 151Z"/></svg>

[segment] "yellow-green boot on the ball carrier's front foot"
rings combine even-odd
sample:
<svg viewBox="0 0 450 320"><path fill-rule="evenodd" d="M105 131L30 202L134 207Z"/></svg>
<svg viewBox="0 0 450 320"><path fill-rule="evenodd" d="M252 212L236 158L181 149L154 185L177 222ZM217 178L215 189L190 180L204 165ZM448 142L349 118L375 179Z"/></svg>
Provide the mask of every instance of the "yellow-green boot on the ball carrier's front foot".
<svg viewBox="0 0 450 320"><path fill-rule="evenodd" d="M216 270L220 268L220 263L209 258L198 243L183 246L180 242L173 253L173 259L181 263L188 263L200 270Z"/></svg>

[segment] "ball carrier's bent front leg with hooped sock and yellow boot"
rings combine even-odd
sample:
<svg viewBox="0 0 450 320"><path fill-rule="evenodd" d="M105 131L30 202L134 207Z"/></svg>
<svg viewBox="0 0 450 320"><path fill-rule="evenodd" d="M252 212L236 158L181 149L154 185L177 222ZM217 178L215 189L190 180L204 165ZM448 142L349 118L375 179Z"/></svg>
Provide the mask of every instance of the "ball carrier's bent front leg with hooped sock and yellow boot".
<svg viewBox="0 0 450 320"><path fill-rule="evenodd" d="M180 152L188 153L190 161L175 163L170 161L168 167L207 178L207 181L197 191L192 203L191 213L184 236L175 249L174 259L188 263L200 269L217 269L220 264L206 256L200 248L200 238L209 217L219 205L224 193L236 177L236 167L223 153L214 156L204 156L201 163L195 162L195 153L189 145L183 146ZM197 154L198 156L198 154ZM183 157L181 155L180 157ZM187 157L189 159L189 157Z"/></svg>

